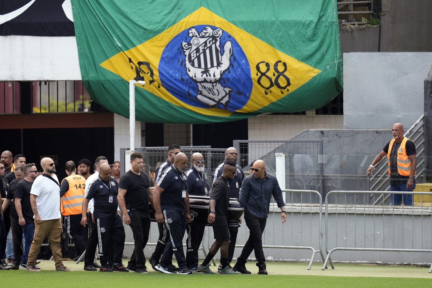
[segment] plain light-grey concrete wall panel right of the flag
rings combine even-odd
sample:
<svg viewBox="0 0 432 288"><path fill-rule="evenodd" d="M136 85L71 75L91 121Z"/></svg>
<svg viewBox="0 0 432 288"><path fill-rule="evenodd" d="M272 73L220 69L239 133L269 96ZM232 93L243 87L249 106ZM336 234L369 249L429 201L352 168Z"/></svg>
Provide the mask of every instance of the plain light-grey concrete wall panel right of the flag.
<svg viewBox="0 0 432 288"><path fill-rule="evenodd" d="M411 125L423 114L432 52L343 54L344 129Z"/></svg>

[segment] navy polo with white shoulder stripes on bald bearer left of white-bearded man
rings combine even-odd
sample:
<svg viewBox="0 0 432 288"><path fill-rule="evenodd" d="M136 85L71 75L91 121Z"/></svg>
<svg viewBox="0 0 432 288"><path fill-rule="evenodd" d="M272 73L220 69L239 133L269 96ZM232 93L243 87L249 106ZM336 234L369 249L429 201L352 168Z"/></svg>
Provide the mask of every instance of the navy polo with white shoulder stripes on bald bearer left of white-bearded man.
<svg viewBox="0 0 432 288"><path fill-rule="evenodd" d="M184 198L182 191L186 190L187 177L184 173L178 172L174 165L165 169L160 175L159 182L156 183L162 189L165 189L161 194L161 209L176 210L185 213Z"/></svg>

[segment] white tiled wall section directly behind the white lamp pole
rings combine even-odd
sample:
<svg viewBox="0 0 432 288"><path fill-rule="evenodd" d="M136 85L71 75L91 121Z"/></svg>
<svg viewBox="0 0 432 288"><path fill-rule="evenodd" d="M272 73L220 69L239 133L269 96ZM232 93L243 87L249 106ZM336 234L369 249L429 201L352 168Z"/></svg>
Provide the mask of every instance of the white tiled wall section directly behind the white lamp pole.
<svg viewBox="0 0 432 288"><path fill-rule="evenodd" d="M141 141L141 122L135 121L135 147L141 147ZM114 161L120 160L120 148L129 145L129 119L114 114Z"/></svg>

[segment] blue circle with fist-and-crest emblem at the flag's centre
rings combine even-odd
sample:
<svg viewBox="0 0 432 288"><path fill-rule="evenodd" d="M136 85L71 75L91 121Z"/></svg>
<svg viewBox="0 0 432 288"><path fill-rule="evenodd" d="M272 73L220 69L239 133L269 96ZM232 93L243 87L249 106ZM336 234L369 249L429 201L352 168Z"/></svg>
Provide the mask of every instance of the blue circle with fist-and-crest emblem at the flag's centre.
<svg viewBox="0 0 432 288"><path fill-rule="evenodd" d="M191 27L197 32L194 36L188 35L191 28L187 28L168 42L159 61L161 83L171 95L188 105L236 111L245 106L252 92L248 58L226 31L222 30L220 41L214 35L199 36L206 27L218 28L196 25ZM227 52L223 48L228 41L232 44L229 63L226 57L229 54L224 57ZM184 47L190 49L185 52Z"/></svg>

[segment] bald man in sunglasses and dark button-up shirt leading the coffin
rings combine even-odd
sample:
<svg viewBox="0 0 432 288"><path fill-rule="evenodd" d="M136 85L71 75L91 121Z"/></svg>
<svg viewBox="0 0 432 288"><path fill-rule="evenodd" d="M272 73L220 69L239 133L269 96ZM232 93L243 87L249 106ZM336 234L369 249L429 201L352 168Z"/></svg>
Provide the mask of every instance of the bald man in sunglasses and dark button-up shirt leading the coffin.
<svg viewBox="0 0 432 288"><path fill-rule="evenodd" d="M255 257L258 262L258 274L268 274L263 251L262 234L270 212L270 199L273 195L277 206L282 211L282 223L286 221L285 202L283 201L282 190L276 176L267 174L266 163L263 160L255 161L252 170L254 177L246 177L243 181L240 199L238 199L245 208L245 221L250 233L240 257L237 258L234 270L242 274L251 274L250 271L246 270L245 264L252 250L255 250Z"/></svg>

